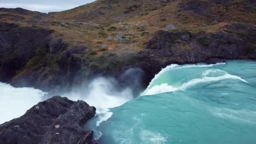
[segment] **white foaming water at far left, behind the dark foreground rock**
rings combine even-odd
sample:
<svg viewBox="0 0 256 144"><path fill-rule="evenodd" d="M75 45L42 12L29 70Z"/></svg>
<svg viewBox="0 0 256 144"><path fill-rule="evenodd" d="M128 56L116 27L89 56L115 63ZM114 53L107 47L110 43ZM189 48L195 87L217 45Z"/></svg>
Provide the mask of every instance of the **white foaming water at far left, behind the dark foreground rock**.
<svg viewBox="0 0 256 144"><path fill-rule="evenodd" d="M0 83L0 124L18 118L42 101L45 92L34 88L14 88Z"/></svg>

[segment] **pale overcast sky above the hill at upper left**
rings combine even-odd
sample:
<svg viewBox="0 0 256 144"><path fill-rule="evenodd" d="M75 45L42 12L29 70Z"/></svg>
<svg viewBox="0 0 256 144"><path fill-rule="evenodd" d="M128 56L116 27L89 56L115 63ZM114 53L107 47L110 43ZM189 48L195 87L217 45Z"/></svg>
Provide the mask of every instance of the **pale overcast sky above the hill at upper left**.
<svg viewBox="0 0 256 144"><path fill-rule="evenodd" d="M24 8L43 13L64 11L95 0L0 0L0 8Z"/></svg>

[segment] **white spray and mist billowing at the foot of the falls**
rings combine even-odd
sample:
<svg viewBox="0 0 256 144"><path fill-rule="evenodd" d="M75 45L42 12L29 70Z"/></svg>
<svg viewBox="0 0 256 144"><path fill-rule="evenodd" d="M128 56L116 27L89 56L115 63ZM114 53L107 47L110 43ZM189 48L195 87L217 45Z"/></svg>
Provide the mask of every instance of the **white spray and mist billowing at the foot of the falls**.
<svg viewBox="0 0 256 144"><path fill-rule="evenodd" d="M86 101L89 105L96 107L96 115L99 117L96 122L96 127L98 127L112 116L113 113L109 111L109 108L119 107L133 99L131 88L118 91L114 83L116 82L110 78L99 77L88 85L86 94L74 91L66 93L65 96L75 101L77 99Z"/></svg>

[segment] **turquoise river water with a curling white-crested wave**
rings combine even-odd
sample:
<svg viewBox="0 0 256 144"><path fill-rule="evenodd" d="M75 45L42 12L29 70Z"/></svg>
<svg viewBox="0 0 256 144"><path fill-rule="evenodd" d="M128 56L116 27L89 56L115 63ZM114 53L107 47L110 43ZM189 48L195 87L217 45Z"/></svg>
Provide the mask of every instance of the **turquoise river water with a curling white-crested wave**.
<svg viewBox="0 0 256 144"><path fill-rule="evenodd" d="M106 113L88 123L102 144L256 144L256 61L168 66Z"/></svg>

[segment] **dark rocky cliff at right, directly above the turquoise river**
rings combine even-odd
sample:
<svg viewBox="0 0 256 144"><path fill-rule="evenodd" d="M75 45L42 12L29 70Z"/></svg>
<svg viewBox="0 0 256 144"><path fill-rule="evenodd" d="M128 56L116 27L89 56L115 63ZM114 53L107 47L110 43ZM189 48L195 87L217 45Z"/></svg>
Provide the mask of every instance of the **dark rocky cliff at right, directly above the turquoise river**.
<svg viewBox="0 0 256 144"><path fill-rule="evenodd" d="M232 24L225 32L214 34L192 34L190 39L184 40L189 32L158 31L147 44L150 59L167 64L193 64L218 59L255 59L256 27L250 24ZM144 60L145 61L145 60ZM167 65L165 64L165 65Z"/></svg>

